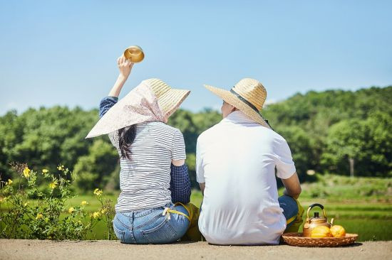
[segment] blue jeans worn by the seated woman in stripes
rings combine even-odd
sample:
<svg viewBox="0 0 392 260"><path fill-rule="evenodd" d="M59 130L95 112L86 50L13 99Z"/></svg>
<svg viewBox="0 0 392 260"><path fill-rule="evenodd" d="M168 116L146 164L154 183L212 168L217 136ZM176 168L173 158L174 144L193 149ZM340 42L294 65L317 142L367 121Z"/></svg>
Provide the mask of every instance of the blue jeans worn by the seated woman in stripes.
<svg viewBox="0 0 392 260"><path fill-rule="evenodd" d="M177 210L188 215L185 207L165 205L171 210ZM180 239L189 227L189 220L182 215L162 215L165 207L155 207L150 210L118 212L113 220L115 235L125 244L167 244Z"/></svg>

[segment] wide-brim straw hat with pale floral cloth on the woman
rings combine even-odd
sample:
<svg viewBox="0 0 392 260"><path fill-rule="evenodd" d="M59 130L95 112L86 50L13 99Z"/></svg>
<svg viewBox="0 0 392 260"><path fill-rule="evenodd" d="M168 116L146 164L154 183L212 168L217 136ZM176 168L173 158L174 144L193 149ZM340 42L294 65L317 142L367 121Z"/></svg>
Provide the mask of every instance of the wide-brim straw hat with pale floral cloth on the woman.
<svg viewBox="0 0 392 260"><path fill-rule="evenodd" d="M189 94L190 90L173 89L162 80L143 80L103 115L86 138L147 121L167 123Z"/></svg>

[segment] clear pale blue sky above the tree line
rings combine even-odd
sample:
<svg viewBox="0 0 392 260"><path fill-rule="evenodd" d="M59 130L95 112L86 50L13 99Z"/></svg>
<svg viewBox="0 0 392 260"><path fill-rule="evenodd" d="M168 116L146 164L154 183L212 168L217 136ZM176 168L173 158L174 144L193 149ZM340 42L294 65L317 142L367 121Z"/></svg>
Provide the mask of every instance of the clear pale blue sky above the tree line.
<svg viewBox="0 0 392 260"><path fill-rule="evenodd" d="M158 77L199 111L243 77L267 102L309 90L392 85L392 1L0 0L0 114L55 104L92 109L140 45L120 97Z"/></svg>

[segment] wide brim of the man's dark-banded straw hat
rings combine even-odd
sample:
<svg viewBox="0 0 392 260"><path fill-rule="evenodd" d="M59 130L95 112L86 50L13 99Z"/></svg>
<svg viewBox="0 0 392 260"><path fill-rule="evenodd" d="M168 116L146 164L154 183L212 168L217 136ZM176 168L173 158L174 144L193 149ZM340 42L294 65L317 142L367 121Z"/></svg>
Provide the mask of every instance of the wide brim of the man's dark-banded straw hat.
<svg viewBox="0 0 392 260"><path fill-rule="evenodd" d="M236 97L232 92L229 92L228 90L222 90L218 87L212 87L210 85L204 85L207 90L210 90L210 92L216 94L218 97L221 99L225 100L225 102L231 104L232 106L236 107L239 109L241 112L246 114L248 117L256 121L257 123L261 124L262 126L267 127L268 129L271 129L269 124L267 124L266 121L262 118L262 115L254 111L251 107L249 107L247 104L242 102L238 97Z"/></svg>

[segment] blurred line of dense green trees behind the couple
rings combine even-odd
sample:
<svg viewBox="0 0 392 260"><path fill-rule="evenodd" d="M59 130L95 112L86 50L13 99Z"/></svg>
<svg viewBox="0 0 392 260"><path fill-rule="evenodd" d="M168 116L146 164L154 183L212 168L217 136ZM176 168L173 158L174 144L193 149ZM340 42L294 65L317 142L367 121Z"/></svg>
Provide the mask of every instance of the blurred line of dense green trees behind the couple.
<svg viewBox="0 0 392 260"><path fill-rule="evenodd" d="M262 110L274 131L292 150L302 181L316 173L392 177L392 86L356 92L329 90L294 94ZM196 140L222 119L204 109L179 109L168 124L182 131L192 185L195 182ZM79 107L9 111L0 117L0 173L13 178L9 164L56 170L58 164L78 175L81 190L118 188L118 153L107 136L85 139L98 121L98 109Z"/></svg>

